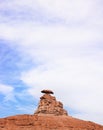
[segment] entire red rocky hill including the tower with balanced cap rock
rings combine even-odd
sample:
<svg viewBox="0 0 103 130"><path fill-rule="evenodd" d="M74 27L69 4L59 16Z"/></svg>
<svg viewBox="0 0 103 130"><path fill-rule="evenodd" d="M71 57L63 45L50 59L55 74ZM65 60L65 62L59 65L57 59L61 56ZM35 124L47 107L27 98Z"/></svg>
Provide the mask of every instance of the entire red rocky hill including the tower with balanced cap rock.
<svg viewBox="0 0 103 130"><path fill-rule="evenodd" d="M103 126L68 115L63 104L50 90L43 90L33 115L16 115L0 119L0 130L103 130Z"/></svg>

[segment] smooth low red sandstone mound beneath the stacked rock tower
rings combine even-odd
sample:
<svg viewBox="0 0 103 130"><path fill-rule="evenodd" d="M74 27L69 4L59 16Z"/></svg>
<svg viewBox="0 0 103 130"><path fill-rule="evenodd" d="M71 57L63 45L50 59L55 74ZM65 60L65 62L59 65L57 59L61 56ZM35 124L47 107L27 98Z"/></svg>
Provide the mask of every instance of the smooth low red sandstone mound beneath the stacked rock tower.
<svg viewBox="0 0 103 130"><path fill-rule="evenodd" d="M103 130L103 126L70 116L43 114L2 118L0 130Z"/></svg>

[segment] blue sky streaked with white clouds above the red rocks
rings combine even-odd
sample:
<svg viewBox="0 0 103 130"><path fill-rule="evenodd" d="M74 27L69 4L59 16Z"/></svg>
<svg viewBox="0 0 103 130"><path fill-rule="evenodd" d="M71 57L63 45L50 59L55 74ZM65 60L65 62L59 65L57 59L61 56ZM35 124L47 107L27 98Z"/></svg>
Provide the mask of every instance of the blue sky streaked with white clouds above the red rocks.
<svg viewBox="0 0 103 130"><path fill-rule="evenodd" d="M102 0L0 0L0 118L33 114L50 89L103 125L102 34Z"/></svg>

